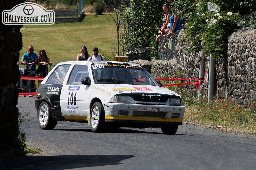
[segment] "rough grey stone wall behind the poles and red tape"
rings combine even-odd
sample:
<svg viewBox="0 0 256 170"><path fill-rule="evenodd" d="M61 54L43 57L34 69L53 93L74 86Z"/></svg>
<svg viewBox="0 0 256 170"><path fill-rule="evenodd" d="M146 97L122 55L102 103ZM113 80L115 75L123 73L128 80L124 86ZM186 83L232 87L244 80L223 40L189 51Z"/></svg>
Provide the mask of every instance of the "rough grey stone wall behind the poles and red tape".
<svg viewBox="0 0 256 170"><path fill-rule="evenodd" d="M183 34L186 32L181 32L179 37ZM155 78L198 78L198 57L188 54L186 47L184 42L177 44L177 59L164 61L153 58L151 74ZM256 100L255 57L256 29L240 30L230 36L228 59L216 60L215 99L232 99L233 102L245 106L249 106ZM207 62L206 57L206 68ZM194 86L195 84L183 85L182 89L197 97ZM208 86L204 88L203 97L208 97Z"/></svg>

